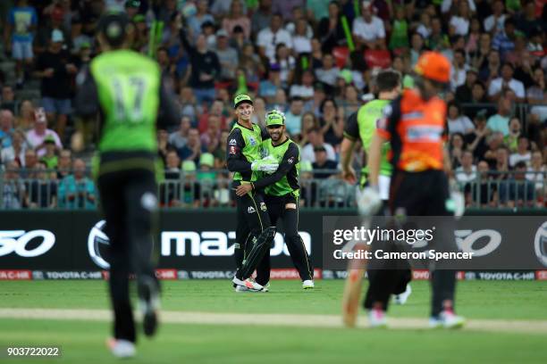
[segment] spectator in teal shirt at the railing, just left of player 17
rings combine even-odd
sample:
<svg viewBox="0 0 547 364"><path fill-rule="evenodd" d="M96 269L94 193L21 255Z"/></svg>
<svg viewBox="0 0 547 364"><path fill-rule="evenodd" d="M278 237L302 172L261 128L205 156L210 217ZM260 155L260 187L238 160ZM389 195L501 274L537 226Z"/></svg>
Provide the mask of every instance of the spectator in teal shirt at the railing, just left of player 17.
<svg viewBox="0 0 547 364"><path fill-rule="evenodd" d="M63 209L95 209L97 206L95 185L86 177L86 163L76 159L72 174L59 182L58 206Z"/></svg>

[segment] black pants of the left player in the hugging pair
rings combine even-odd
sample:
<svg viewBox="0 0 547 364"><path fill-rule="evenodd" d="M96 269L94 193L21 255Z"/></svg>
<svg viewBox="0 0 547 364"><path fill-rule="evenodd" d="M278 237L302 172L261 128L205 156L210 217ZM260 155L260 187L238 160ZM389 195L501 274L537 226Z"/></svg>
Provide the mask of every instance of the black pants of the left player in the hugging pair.
<svg viewBox="0 0 547 364"><path fill-rule="evenodd" d="M232 188L240 186L239 181L232 183ZM234 194L235 195L235 194ZM253 239L256 239L266 227L270 227L270 217L266 208L264 197L257 191L252 191L244 196L235 196L237 206L238 223L236 227L236 244L234 257L236 268L240 269L246 254L253 245ZM266 257L260 261L257 270L270 271L270 252L266 252ZM266 282L264 282L266 283ZM258 282L260 284L260 282Z"/></svg>

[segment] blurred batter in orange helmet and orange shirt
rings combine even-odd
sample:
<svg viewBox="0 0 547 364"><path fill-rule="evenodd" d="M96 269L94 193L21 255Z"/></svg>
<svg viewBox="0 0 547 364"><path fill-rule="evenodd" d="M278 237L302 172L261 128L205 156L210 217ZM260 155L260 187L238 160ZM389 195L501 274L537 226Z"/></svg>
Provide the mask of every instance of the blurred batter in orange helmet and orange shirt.
<svg viewBox="0 0 547 364"><path fill-rule="evenodd" d="M415 67L416 88L407 89L383 111L373 137L368 159L369 186L360 194L363 212L374 214L382 205L379 174L382 147L391 141L393 176L389 206L397 216L450 216L450 159L444 147L447 135L446 103L438 96L450 82L450 62L434 52L422 54ZM437 250L457 251L453 234L434 239ZM389 270L378 270L386 290L397 285ZM454 313L456 274L452 269L434 269L432 277L431 327L461 327L464 318ZM354 277L352 277L354 278ZM351 279L349 280L351 281ZM380 298L380 297L378 297ZM372 302L372 315L385 322L389 295ZM349 320L346 324L351 325ZM378 325L380 326L380 325ZM382 325L383 326L383 325Z"/></svg>

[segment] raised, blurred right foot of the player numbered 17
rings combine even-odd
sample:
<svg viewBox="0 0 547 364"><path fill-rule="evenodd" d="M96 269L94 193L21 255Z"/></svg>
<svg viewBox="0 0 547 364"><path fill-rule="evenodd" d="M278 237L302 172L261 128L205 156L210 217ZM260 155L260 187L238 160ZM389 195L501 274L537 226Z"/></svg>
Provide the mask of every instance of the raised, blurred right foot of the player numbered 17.
<svg viewBox="0 0 547 364"><path fill-rule="evenodd" d="M156 280L151 277L139 279L139 310L142 314L142 327L147 336L156 334L159 292Z"/></svg>

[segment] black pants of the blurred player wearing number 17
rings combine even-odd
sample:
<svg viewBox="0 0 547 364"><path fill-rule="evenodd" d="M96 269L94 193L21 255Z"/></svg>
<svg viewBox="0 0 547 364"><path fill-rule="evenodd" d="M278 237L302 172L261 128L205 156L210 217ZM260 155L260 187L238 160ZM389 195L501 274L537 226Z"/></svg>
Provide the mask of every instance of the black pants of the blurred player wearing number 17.
<svg viewBox="0 0 547 364"><path fill-rule="evenodd" d="M110 296L114 309L114 338L136 341L129 275L156 280L151 256L153 216L157 208L156 179L151 170L122 170L102 174L98 190L110 239ZM157 280L156 280L157 282Z"/></svg>

